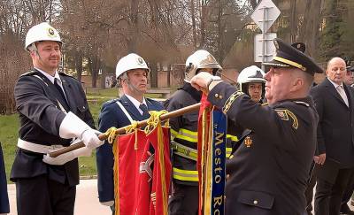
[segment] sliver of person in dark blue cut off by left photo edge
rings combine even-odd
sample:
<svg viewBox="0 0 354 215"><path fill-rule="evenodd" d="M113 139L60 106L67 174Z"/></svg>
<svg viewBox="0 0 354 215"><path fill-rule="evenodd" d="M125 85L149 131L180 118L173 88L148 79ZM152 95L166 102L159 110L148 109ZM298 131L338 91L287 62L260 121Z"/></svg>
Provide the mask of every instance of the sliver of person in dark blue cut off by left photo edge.
<svg viewBox="0 0 354 215"><path fill-rule="evenodd" d="M7 196L7 182L4 165L3 150L0 142L0 215L10 212L9 196Z"/></svg>

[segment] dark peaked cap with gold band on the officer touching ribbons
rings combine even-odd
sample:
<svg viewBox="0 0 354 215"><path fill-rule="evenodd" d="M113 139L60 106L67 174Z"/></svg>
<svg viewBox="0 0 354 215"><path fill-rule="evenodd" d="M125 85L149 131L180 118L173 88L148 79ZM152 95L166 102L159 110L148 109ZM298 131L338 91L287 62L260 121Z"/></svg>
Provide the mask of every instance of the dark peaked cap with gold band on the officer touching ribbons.
<svg viewBox="0 0 354 215"><path fill-rule="evenodd" d="M323 70L317 65L312 58L306 56L300 50L283 42L279 38L273 40L276 48L276 56L271 62L263 63L263 65L271 65L276 67L296 67L306 73L323 73Z"/></svg>

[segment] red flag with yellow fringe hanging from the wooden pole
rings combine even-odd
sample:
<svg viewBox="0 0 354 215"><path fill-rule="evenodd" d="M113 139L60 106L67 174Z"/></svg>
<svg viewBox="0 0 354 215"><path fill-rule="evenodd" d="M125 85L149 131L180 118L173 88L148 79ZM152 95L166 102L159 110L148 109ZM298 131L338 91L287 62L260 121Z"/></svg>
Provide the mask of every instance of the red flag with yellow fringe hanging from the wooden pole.
<svg viewBox="0 0 354 215"><path fill-rule="evenodd" d="M151 130L135 128L133 133L116 137L113 146L116 215L168 213L172 171L170 133L168 127L161 127L160 112L150 114Z"/></svg>

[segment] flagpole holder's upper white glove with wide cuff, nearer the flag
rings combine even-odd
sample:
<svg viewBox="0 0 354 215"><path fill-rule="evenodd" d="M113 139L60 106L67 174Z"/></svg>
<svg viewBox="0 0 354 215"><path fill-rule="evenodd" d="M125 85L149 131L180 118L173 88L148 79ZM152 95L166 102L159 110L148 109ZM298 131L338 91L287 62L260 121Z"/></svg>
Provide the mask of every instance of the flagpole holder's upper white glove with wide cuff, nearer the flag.
<svg viewBox="0 0 354 215"><path fill-rule="evenodd" d="M96 130L89 127L84 121L78 118L73 112L68 112L60 124L59 135L62 138L70 139L77 137L90 149L97 148L104 144L97 137Z"/></svg>

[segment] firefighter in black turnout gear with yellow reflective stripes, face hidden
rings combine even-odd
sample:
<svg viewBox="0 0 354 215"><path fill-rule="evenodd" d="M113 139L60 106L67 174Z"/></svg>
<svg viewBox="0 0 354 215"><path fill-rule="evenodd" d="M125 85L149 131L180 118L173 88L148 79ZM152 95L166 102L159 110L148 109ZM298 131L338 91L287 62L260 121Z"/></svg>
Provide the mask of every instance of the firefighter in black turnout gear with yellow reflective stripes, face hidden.
<svg viewBox="0 0 354 215"><path fill-rule="evenodd" d="M196 50L186 61L183 86L165 101L167 111L199 103L202 93L192 88L190 79L199 72L215 75L221 66L206 50ZM198 210L198 173L197 159L197 122L198 112L189 112L178 118L170 119L171 149L173 149L173 195L168 205L170 215L197 214ZM228 142L235 136L227 135ZM231 152L228 147L227 152Z"/></svg>

